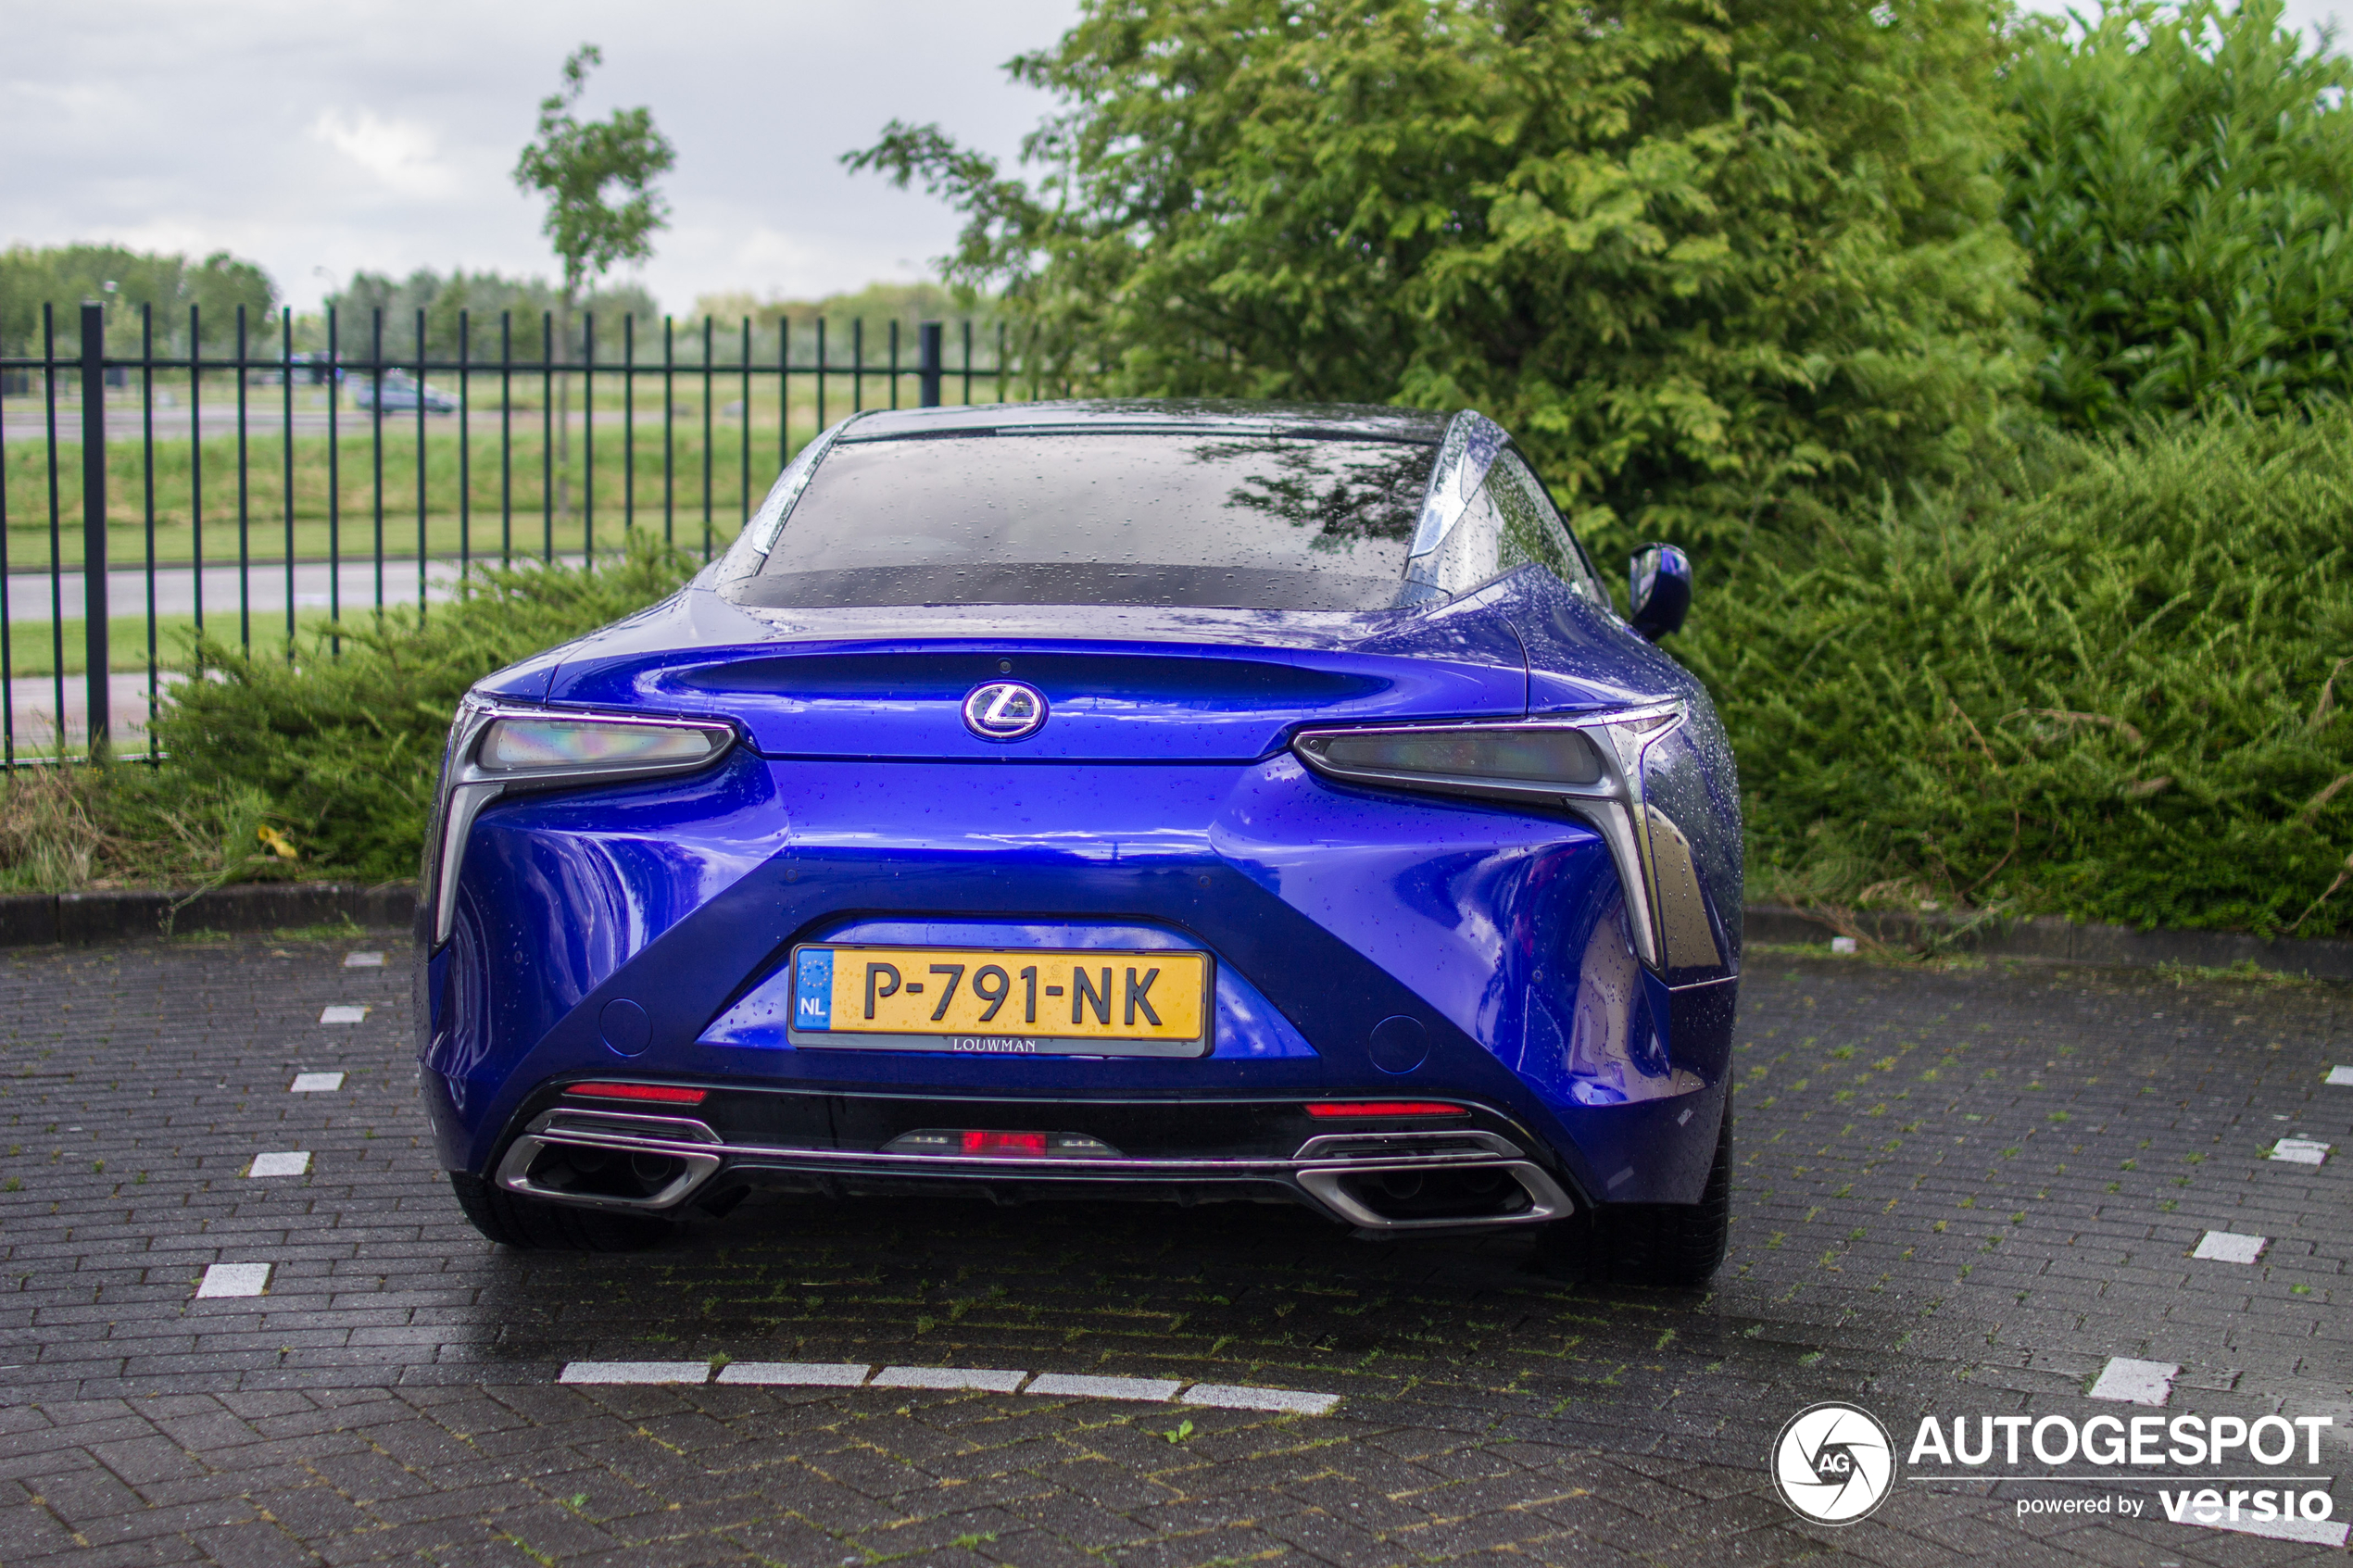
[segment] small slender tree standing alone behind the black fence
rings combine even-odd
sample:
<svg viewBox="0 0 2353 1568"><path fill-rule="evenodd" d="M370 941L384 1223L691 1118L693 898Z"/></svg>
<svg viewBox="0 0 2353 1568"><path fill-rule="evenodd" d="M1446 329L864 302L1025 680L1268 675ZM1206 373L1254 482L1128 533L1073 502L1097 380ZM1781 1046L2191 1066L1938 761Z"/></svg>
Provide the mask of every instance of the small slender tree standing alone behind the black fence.
<svg viewBox="0 0 2353 1568"><path fill-rule="evenodd" d="M605 63L605 52L581 45L565 59L565 85L539 101L539 139L525 143L515 160L515 186L548 197L541 233L565 263L558 327L562 353L572 353L572 313L581 284L602 277L621 261L645 261L654 254L654 230L666 228L671 209L654 188L654 176L668 174L678 150L654 129L654 110L616 108L605 120L581 120L574 106L588 89L588 71ZM607 190L621 195L607 200ZM572 376L558 383L558 508L569 512L572 463Z"/></svg>

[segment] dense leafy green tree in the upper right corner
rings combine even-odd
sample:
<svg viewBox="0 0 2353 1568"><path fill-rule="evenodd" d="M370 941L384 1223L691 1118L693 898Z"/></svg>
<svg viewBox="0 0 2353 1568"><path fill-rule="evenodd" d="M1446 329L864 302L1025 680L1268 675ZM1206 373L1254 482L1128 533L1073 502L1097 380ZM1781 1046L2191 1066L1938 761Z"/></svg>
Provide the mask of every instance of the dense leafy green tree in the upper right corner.
<svg viewBox="0 0 2353 1568"><path fill-rule="evenodd" d="M2061 421L2353 393L2353 61L2280 0L2122 0L2026 35L2005 216Z"/></svg>

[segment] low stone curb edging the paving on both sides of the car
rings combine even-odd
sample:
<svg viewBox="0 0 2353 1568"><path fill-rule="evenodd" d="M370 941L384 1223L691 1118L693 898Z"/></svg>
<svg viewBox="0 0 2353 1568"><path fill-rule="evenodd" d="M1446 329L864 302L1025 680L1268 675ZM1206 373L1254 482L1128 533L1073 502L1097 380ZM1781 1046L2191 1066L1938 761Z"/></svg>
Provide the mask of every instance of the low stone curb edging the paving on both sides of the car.
<svg viewBox="0 0 2353 1568"><path fill-rule="evenodd" d="M172 905L186 893L129 889L113 893L12 893L0 896L0 947L47 943L120 943L165 936ZM275 931L280 926L327 926L348 919L369 931L412 926L416 884L384 882L256 882L198 893L181 905L172 931ZM1948 936L1948 914L1901 910L1857 912L1854 926L1889 947L1922 947ZM1748 905L1741 912L1748 943L1826 943L1835 936L1824 919L1786 905ZM2057 964L2118 964L2153 969L2188 964L2231 969L2257 964L2315 980L2353 980L2353 943L2264 940L2245 931L2137 931L2132 926L2078 926L2038 917L1986 924L1953 940L1981 957L2045 959Z"/></svg>

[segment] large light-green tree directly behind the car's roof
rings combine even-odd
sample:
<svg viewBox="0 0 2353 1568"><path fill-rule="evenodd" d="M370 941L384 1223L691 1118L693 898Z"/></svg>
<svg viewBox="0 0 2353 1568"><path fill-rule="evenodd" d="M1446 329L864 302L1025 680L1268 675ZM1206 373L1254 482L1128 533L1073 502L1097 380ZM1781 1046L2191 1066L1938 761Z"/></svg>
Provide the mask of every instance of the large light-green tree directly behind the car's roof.
<svg viewBox="0 0 2353 1568"><path fill-rule="evenodd" d="M1962 463L2024 374L1991 0L1087 0L1033 188L939 127L1071 388L1482 407L1588 527L1711 543Z"/></svg>

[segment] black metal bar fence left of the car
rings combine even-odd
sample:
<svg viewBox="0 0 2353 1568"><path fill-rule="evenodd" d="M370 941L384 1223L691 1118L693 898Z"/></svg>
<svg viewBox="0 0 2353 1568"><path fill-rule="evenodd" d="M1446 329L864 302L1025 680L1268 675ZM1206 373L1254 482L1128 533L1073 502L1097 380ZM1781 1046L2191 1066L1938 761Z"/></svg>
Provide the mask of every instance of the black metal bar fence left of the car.
<svg viewBox="0 0 2353 1568"><path fill-rule="evenodd" d="M593 559L652 527L708 559L831 418L1016 393L1002 324L951 339L925 322L904 343L899 322L849 322L828 346L824 320L664 317L656 334L624 317L619 355L607 322L600 357L586 313L569 334L501 313L494 339L459 313L456 353L435 357L424 310L409 353L381 310L327 310L311 353L292 313L259 355L242 308L226 355L205 353L193 308L181 355L158 355L151 310L136 322L139 353L111 355L106 308L85 303L61 350L42 308L40 353L0 357L7 769L153 757L134 731L169 701L176 649L226 639L231 614L242 649L292 656L306 621L424 614L489 559Z"/></svg>

